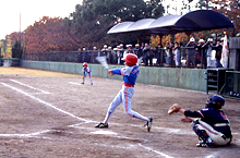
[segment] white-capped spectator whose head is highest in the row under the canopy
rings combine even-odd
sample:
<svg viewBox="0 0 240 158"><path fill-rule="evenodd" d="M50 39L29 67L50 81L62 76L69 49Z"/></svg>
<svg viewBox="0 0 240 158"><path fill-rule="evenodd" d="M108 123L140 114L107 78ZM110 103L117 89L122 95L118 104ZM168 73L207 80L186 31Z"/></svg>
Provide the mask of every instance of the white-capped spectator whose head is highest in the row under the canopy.
<svg viewBox="0 0 240 158"><path fill-rule="evenodd" d="M187 49L187 66L194 68L195 66L195 47L196 47L195 39L193 37L190 38L185 47L189 47Z"/></svg>

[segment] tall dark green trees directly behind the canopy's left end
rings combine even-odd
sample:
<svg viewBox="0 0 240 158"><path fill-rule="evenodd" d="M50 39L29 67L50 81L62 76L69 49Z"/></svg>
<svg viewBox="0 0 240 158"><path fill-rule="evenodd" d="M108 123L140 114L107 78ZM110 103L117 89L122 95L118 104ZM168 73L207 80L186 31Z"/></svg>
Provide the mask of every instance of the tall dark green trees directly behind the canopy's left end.
<svg viewBox="0 0 240 158"><path fill-rule="evenodd" d="M107 35L116 24L146 17L159 17L164 13L160 0L84 0L75 7L69 19L69 34L80 45L117 45L117 41L136 41L133 37ZM131 40L130 40L131 39ZM92 47L91 46L91 47Z"/></svg>

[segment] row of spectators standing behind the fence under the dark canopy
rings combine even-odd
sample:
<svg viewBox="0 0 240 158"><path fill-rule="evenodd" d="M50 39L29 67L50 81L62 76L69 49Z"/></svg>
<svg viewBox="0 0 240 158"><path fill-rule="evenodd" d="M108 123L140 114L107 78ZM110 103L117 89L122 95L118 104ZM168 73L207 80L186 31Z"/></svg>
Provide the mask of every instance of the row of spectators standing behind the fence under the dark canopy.
<svg viewBox="0 0 240 158"><path fill-rule="evenodd" d="M205 42L204 39L200 39L197 42L193 37L190 38L188 44L183 47L182 42L166 42L165 46L158 44L154 49L151 48L148 42L135 44L134 46L129 44L123 48L123 44L120 44L116 48L104 45L101 49L94 47L93 51L87 51L86 62L94 62L94 59L99 56L106 56L107 61L110 64L123 64L121 60L128 53L134 53L137 56L141 65L158 65L158 66L182 66L182 61L185 61L188 68L223 68L220 63L223 38L217 40L216 45L213 45L213 38L208 38ZM185 50L185 51L184 51ZM82 51L86 51L85 48ZM95 53L96 51L96 53ZM213 63L213 51L215 51L215 63ZM94 52L94 53L92 53ZM154 59L156 62L154 62ZM92 61L93 60L93 61ZM183 63L184 64L184 63Z"/></svg>

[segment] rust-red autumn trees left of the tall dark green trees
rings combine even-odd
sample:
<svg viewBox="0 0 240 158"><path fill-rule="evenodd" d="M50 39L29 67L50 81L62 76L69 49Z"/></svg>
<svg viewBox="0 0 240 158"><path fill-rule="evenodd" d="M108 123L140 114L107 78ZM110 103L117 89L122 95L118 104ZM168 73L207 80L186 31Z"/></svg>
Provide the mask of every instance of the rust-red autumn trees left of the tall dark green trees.
<svg viewBox="0 0 240 158"><path fill-rule="evenodd" d="M77 50L61 17L44 16L24 33L25 52ZM76 47L76 48L75 48Z"/></svg>

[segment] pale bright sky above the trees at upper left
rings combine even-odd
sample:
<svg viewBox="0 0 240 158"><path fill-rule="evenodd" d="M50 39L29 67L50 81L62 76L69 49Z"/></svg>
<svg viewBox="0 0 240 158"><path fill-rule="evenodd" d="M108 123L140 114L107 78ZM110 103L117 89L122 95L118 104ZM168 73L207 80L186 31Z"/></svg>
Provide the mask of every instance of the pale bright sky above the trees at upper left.
<svg viewBox="0 0 240 158"><path fill-rule="evenodd" d="M33 25L43 16L68 17L82 0L0 0L0 39Z"/></svg>

